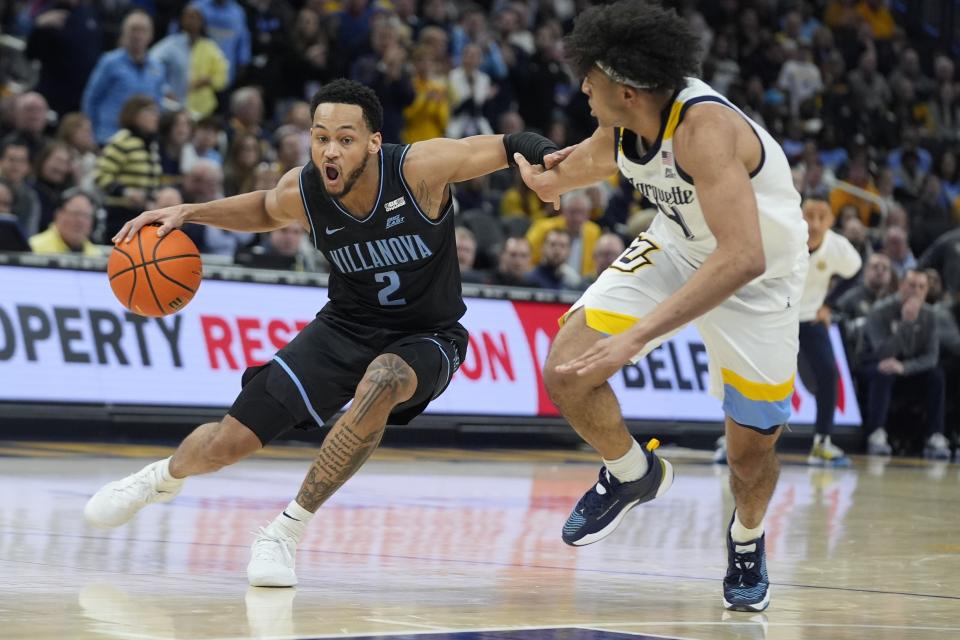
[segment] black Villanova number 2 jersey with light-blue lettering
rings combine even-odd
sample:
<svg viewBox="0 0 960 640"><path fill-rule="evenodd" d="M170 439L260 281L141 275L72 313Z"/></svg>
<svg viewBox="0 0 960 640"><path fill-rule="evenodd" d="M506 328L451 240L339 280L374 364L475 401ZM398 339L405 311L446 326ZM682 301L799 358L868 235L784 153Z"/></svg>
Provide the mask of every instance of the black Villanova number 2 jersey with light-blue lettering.
<svg viewBox="0 0 960 640"><path fill-rule="evenodd" d="M362 220L327 195L313 161L300 172L300 195L314 246L330 263L333 312L360 324L429 331L459 320L466 306L454 237L453 201L437 220L420 210L403 178L409 145L384 144L380 190Z"/></svg>

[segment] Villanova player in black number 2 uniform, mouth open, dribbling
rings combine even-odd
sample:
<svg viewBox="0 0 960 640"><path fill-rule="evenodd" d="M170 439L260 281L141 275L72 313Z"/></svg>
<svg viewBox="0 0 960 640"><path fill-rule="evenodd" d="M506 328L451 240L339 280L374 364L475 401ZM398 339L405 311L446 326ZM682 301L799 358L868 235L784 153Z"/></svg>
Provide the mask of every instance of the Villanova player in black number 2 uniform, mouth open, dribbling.
<svg viewBox="0 0 960 640"><path fill-rule="evenodd" d="M148 211L163 234L185 222L270 231L309 230L331 264L330 301L266 365L248 369L229 413L198 427L172 457L98 491L84 515L116 527L147 504L172 500L184 478L250 455L291 427L332 426L300 492L253 543L254 586L292 586L296 545L314 512L364 463L387 422L405 424L446 388L467 332L450 183L507 166L520 153L542 162L556 147L533 133L382 144L382 109L363 85L337 80L313 99L311 161L271 191Z"/></svg>

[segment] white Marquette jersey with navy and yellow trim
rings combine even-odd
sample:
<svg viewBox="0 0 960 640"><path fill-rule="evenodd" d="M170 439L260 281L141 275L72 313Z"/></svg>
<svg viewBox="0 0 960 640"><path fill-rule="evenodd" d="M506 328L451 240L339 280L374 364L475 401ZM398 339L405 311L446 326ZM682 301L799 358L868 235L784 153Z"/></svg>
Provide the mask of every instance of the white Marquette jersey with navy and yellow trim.
<svg viewBox="0 0 960 640"><path fill-rule="evenodd" d="M704 102L723 105L740 114L753 128L762 151L760 163L750 174L760 212L760 234L766 257L762 279L790 274L807 252L807 224L800 211L800 194L793 186L790 165L780 145L757 123L696 78L663 111L660 133L648 149L641 148L637 135L616 130L617 166L634 188L660 210L650 226L651 233L695 266L703 264L717 247L703 217L693 179L686 174L673 153L673 134L684 115ZM682 158L680 159L683 160Z"/></svg>

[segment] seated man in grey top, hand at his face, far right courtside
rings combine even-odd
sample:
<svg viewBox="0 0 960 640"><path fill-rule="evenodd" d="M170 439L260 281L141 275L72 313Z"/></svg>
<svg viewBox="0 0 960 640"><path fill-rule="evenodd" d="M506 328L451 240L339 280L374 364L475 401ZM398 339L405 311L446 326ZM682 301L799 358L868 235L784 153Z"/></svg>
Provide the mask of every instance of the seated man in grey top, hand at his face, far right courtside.
<svg viewBox="0 0 960 640"><path fill-rule="evenodd" d="M924 454L949 459L943 435L944 377L937 367L939 340L933 307L926 304L927 274L911 269L895 296L877 303L867 314L866 376L867 415L864 430L867 451L890 455L887 419L890 401L900 397L922 398L924 408Z"/></svg>

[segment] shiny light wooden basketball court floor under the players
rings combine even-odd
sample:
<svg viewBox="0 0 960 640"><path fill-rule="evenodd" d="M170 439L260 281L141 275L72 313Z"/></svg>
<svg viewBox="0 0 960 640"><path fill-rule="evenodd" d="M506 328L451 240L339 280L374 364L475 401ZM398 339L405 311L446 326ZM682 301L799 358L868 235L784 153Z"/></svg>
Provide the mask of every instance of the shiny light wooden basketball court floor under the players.
<svg viewBox="0 0 960 640"><path fill-rule="evenodd" d="M0 443L0 638L636 640L960 638L960 465L784 456L765 614L720 598L727 471L677 481L608 539L560 528L596 478L578 452L390 450L311 523L296 589L251 588L251 532L312 455L271 447L191 479L118 530L82 520L104 482L170 449Z"/></svg>

